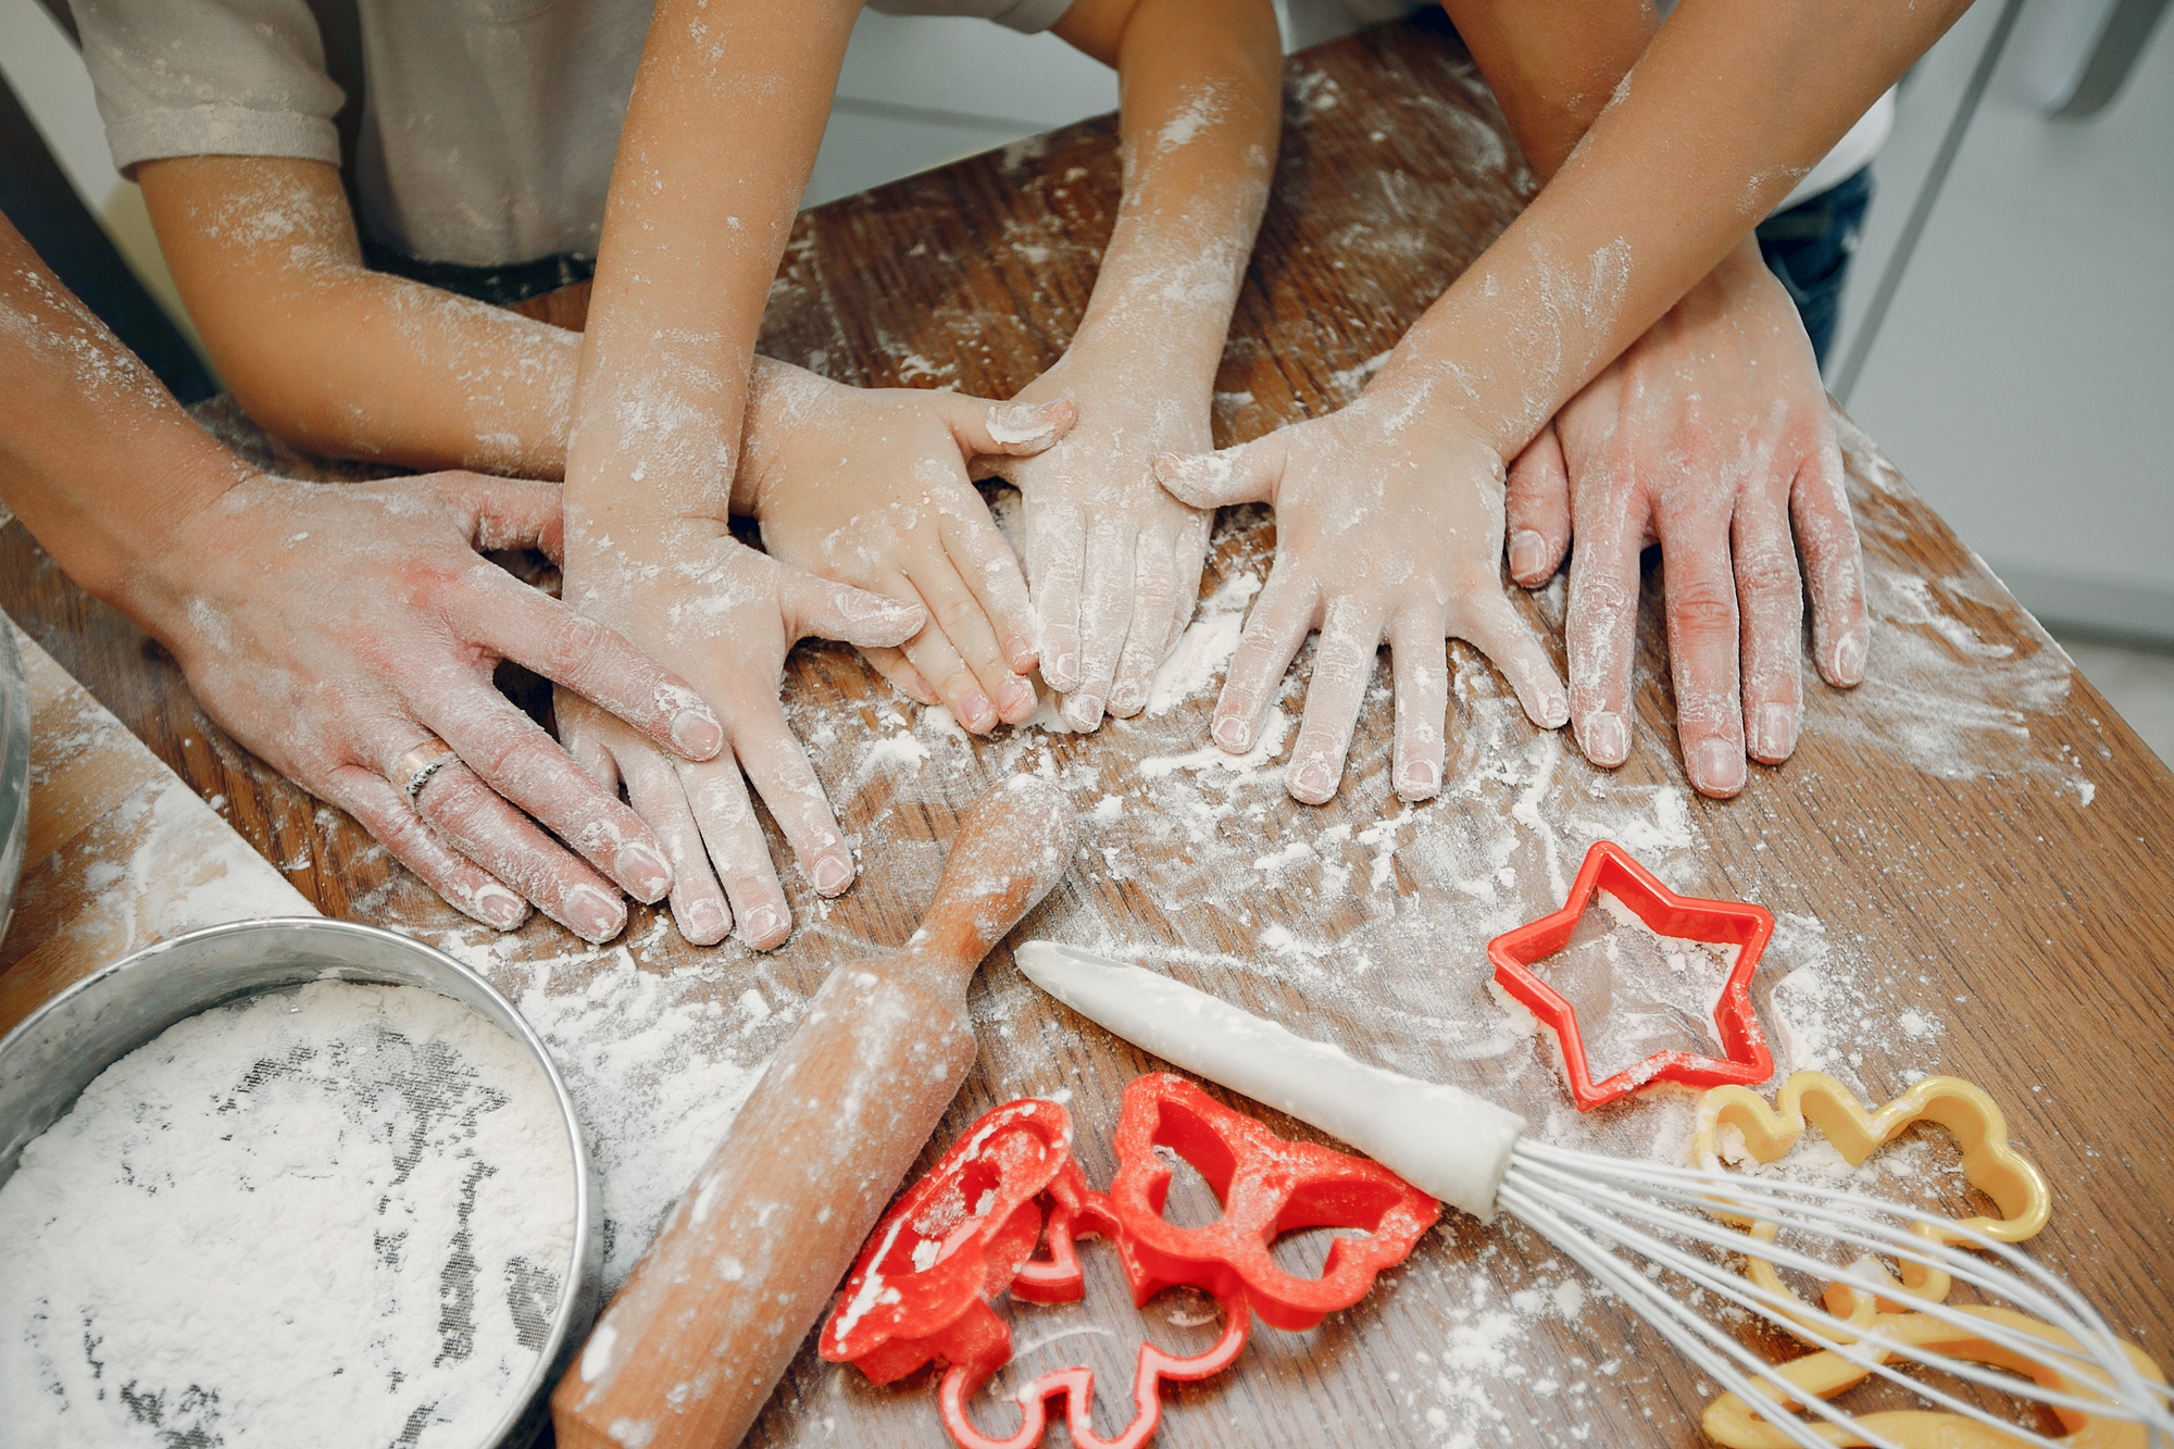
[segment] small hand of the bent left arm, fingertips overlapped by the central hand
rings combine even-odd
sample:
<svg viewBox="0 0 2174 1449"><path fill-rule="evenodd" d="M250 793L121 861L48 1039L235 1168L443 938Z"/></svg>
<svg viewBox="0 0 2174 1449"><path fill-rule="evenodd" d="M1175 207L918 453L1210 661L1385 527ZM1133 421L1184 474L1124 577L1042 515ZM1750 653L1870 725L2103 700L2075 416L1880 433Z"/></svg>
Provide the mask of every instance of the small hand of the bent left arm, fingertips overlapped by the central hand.
<svg viewBox="0 0 2174 1449"><path fill-rule="evenodd" d="M902 648L867 661L974 733L1035 714L1033 614L1011 544L967 476L974 457L1041 453L1070 403L983 403L917 387L863 389L757 359L735 492L774 559L926 605Z"/></svg>

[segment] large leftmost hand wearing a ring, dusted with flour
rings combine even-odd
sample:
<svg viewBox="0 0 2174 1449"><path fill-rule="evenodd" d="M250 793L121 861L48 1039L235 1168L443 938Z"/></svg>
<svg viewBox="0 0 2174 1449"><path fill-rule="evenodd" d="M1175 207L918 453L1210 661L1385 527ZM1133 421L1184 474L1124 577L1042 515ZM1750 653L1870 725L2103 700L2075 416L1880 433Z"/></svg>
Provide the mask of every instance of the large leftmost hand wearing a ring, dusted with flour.
<svg viewBox="0 0 2174 1449"><path fill-rule="evenodd" d="M513 659L689 759L715 755L724 729L622 635L478 557L557 555L559 537L548 483L246 476L176 524L172 574L137 594L163 596L163 633L213 720L457 907L504 931L526 899L609 940L626 922L620 888L654 901L672 886L665 853L491 688L491 668ZM402 759L433 740L459 759L411 805Z"/></svg>

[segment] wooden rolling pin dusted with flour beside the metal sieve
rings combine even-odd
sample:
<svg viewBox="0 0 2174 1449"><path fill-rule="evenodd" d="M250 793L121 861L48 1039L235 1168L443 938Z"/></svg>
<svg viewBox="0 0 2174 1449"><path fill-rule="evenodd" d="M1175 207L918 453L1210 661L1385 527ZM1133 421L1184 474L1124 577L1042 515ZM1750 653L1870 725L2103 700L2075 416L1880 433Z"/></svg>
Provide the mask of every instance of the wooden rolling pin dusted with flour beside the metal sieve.
<svg viewBox="0 0 2174 1449"><path fill-rule="evenodd" d="M1065 875L1057 785L983 796L896 955L839 966L552 1392L561 1449L724 1449L770 1390L974 1066L965 988Z"/></svg>

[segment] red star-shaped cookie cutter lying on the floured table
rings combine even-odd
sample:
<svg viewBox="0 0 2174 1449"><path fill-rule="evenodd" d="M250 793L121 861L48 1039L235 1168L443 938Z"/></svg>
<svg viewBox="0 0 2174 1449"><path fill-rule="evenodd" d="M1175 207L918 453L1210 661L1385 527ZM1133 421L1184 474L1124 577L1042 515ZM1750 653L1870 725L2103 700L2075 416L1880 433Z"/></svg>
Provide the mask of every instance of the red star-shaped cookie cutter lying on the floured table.
<svg viewBox="0 0 2174 1449"><path fill-rule="evenodd" d="M1713 1005L1713 1025L1722 1036L1726 1057L1659 1051L1604 1081L1594 1081L1591 1068L1585 1062L1585 1038L1578 1036L1576 1010L1561 992L1535 977L1530 966L1570 944L1570 931L1578 925L1585 907L1591 905L1596 890L1607 890L1628 905L1657 936L1739 946L1737 964L1722 986L1722 999ZM1767 1049L1765 1031L1759 1029L1759 1014L1752 1012L1750 994L1752 970L1759 966L1759 955L1765 951L1770 936L1774 936L1774 916L1763 905L1678 896L1657 881L1646 866L1630 859L1630 853L1620 844L1598 840L1585 853L1585 864L1578 868L1578 879L1572 883L1563 909L1496 936L1487 942L1487 959L1494 962L1496 983L1554 1031L1557 1042L1563 1046L1563 1073L1570 1077L1570 1094L1576 1099L1578 1112L1591 1112L1600 1103L1615 1101L1654 1081L1715 1088L1757 1086L1772 1077L1774 1053Z"/></svg>

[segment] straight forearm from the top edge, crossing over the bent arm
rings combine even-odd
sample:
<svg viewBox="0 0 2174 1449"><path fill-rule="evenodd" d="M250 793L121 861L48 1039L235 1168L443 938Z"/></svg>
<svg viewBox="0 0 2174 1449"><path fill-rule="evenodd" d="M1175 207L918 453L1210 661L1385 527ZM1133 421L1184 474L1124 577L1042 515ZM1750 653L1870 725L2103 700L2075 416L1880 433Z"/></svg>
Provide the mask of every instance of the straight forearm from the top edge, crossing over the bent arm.
<svg viewBox="0 0 2174 1449"><path fill-rule="evenodd" d="M778 24L663 0L604 209L567 455L567 531L724 520L754 335L791 235L854 0Z"/></svg>

